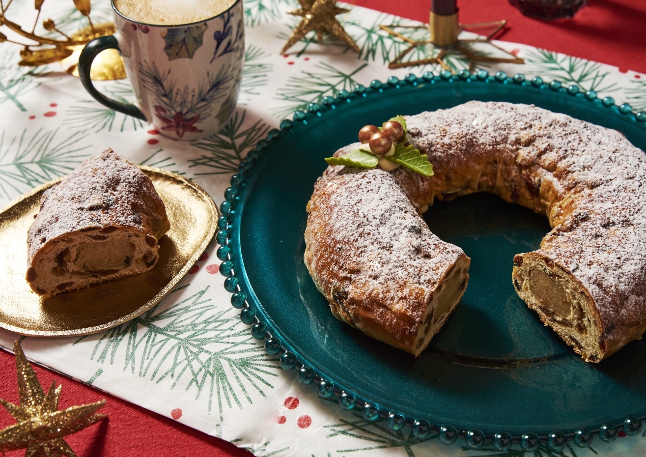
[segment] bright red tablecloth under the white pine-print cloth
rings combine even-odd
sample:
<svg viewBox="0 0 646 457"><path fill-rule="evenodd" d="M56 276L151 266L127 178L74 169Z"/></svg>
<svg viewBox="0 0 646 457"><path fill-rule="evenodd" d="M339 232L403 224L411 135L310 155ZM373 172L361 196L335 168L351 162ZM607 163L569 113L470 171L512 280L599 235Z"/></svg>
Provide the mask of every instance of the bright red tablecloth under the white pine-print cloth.
<svg viewBox="0 0 646 457"><path fill-rule="evenodd" d="M572 56L616 65L621 70L646 73L646 2L643 0L589 0L590 5L574 19L551 23L522 16L507 0L459 0L463 23L506 19L509 27L500 39L556 50ZM429 0L355 0L355 5L428 21ZM406 5L406 10L401 10ZM0 351L3 383L0 398L18 403L14 356ZM67 438L79 457L218 457L248 456L231 443L207 436L172 419L164 418L126 401L105 395L50 370L36 367L41 383L55 380L63 385L61 408L90 403L101 398L107 405L101 412L109 419ZM14 423L0 410L0 427ZM24 455L25 451L8 452L7 456Z"/></svg>

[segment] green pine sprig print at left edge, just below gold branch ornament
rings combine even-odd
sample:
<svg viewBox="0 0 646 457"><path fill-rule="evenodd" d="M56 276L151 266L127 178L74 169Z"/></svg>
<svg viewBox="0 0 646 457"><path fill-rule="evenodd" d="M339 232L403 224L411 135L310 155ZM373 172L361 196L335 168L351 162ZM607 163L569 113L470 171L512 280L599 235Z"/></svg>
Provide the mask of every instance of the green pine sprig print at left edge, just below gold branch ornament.
<svg viewBox="0 0 646 457"><path fill-rule="evenodd" d="M41 82L36 78L48 73L45 70L47 66L25 70L25 67L18 67L17 55L14 48L7 47L5 47L5 52L0 55L0 105L5 101L10 101L20 111L27 111L19 98L41 85Z"/></svg>

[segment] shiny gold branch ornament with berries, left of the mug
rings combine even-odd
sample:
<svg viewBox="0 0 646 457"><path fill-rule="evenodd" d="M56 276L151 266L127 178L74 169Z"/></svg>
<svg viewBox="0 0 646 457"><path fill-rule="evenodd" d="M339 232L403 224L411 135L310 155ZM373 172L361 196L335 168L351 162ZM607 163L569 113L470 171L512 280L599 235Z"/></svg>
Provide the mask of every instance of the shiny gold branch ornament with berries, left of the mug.
<svg viewBox="0 0 646 457"><path fill-rule="evenodd" d="M45 0L34 0L34 8L36 9L36 21L31 32L23 29L17 23L10 21L6 17L6 11L11 6L13 0L8 0L5 5L5 0L0 0L0 26L5 26L26 39L36 41L36 45L20 43L9 39L5 34L0 32L0 43L14 43L23 48L20 50L21 61L18 65L21 67L37 67L39 65L47 65L48 63L61 62L61 66L70 74L78 76L78 56L83 47L99 36L114 34L114 24L92 24L90 19L90 0L74 0L74 6L89 22L89 27L79 30L72 36L61 32L56 28L56 23L52 19L45 19L43 21L43 28L48 32L57 32L62 38L51 38L46 36L39 36L35 33L36 25L41 14L41 8ZM105 54L105 56L103 56ZM95 59L92 69L90 69L90 77L93 80L120 80L126 77L125 69L123 67L123 60L118 52L114 49L109 49L101 52L102 59ZM96 69L95 69L96 67Z"/></svg>

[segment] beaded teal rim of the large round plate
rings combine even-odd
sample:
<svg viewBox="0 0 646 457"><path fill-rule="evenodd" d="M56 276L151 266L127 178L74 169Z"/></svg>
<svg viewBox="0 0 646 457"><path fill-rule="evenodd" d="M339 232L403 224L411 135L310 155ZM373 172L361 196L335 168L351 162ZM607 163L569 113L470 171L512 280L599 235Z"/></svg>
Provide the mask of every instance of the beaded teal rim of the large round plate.
<svg viewBox="0 0 646 457"><path fill-rule="evenodd" d="M471 73L468 70L460 70L457 74L452 74L448 70L442 70L439 75L427 71L421 77L415 74L407 74L403 80L399 80L397 76L390 76L386 83L379 80L373 80L370 83L370 89L374 92L383 92L384 90L399 89L406 85L419 85L424 83L452 83L454 81L479 81L481 83L502 83L502 84L516 84L526 87L533 87L534 89L545 90L551 89L554 92L561 92L585 98L598 105L611 109L615 112L624 114L631 118L634 122L646 122L646 112L633 112L632 107L628 103L623 103L620 106L615 105L614 98L605 97L599 99L597 92L588 90L583 92L577 85L569 85L565 87L559 81L552 81L545 83L543 78L536 76L532 80L526 80L525 75L517 73L513 77L508 76L505 72L499 71L490 76L486 70L479 70ZM231 304L234 308L240 310L240 320L247 325L251 325L251 335L258 341L265 341L265 351L269 356L280 356L280 367L284 370L297 370L298 381L303 384L317 385L318 396L321 398L330 399L333 396L339 398L339 406L342 409L360 409L362 410L363 417L368 421L375 421L379 418L385 419L388 427L391 430L401 430L404 426L412 427L413 436L419 440L426 440L433 434L439 435L439 441L444 444L450 445L455 443L458 438L466 441L466 445L471 449L479 449L485 443L493 443L494 448L498 451L507 451L514 443L519 444L521 449L525 451L536 451L541 443L547 445L553 451L559 452L565 449L567 441L573 441L578 447L588 447L594 436L599 439L610 443L619 436L620 430L629 436L635 436L641 432L642 421L646 420L646 415L641 417L628 417L620 423L603 423L594 429L581 428L574 430L574 432L563 433L561 431L553 431L546 435L538 436L533 432L526 432L521 435L512 436L507 432L495 432L485 434L482 430L472 429L464 430L459 427L448 424L433 424L428 420L422 418L406 418L404 415L395 410L383 409L377 403L370 401L370 399L357 398L352 392L345 390L342 386L331 381L321 374L315 373L313 368L307 365L307 360L304 357L297 356L289 348L287 348L280 338L277 336L273 329L269 329L267 324L262 322L256 316L256 310L247 301L247 294L240 288L240 279L235 275L233 260L231 254L233 248L232 231L234 221L231 213L234 211L236 199L238 199L238 187L245 181L245 175L249 173L253 167L253 163L258 160L260 154L269 149L269 145L273 140L280 138L281 131L290 130L295 122L306 124L307 118L312 116L322 116L326 111L331 111L342 103L350 103L353 99L366 97L368 88L363 85L355 85L352 92L348 90L340 90L338 97L334 98L326 96L323 98L323 107L318 103L309 103L307 105L307 112L296 111L293 114L293 120L285 119L280 122L280 129L271 129L267 132L267 139L260 140L255 149L251 149L245 158L238 166L238 173L231 176L231 187L227 187L224 193L224 202L220 205L220 212L222 216L218 219L218 233L216 234L216 241L220 244L220 248L216 253L218 259L222 260L220 264L220 273L226 277L224 281L224 288L227 292L232 293ZM236 222L240 222L240 216L233 213ZM237 242L239 247L239 240Z"/></svg>

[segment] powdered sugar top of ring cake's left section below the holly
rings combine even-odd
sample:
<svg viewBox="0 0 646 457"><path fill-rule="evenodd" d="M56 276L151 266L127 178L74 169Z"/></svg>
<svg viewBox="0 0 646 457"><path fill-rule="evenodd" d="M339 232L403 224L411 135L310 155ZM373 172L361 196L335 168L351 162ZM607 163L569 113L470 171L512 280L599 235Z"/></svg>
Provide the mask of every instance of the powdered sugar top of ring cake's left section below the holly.
<svg viewBox="0 0 646 457"><path fill-rule="evenodd" d="M446 269L463 255L431 233L397 180L381 169L348 168L320 180L309 211L311 267L343 291L344 303L390 306L415 322Z"/></svg>

